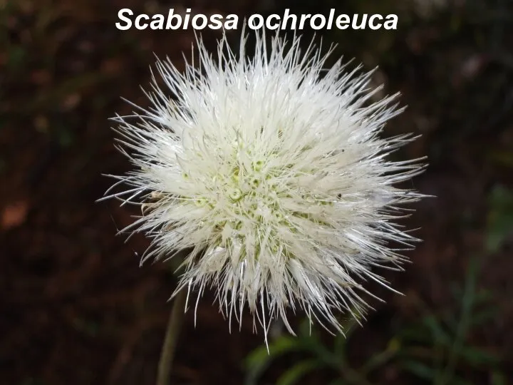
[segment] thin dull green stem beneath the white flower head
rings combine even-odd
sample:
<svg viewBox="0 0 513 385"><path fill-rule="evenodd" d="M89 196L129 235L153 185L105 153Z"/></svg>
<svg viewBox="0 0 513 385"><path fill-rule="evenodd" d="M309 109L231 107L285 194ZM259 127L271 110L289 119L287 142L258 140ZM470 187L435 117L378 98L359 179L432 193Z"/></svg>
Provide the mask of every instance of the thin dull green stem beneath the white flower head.
<svg viewBox="0 0 513 385"><path fill-rule="evenodd" d="M170 385L172 361L175 356L178 334L182 328L186 298L187 290L182 289L177 293L173 302L170 318L167 322L167 329L164 344L162 345L162 352L160 353L157 385Z"/></svg>

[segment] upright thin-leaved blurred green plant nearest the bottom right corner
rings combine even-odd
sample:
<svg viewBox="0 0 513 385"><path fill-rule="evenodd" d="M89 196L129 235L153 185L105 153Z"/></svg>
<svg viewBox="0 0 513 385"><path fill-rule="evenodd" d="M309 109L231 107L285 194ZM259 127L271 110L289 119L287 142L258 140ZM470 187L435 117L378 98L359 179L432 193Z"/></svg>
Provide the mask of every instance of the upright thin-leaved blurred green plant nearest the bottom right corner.
<svg viewBox="0 0 513 385"><path fill-rule="evenodd" d="M399 332L403 348L397 357L398 366L433 385L473 384L457 375L460 364L475 370L497 369L497 356L468 341L472 329L494 317L490 294L477 289L477 272L477 262L472 259L464 287L454 290L460 309L433 314L423 306L425 317Z"/></svg>

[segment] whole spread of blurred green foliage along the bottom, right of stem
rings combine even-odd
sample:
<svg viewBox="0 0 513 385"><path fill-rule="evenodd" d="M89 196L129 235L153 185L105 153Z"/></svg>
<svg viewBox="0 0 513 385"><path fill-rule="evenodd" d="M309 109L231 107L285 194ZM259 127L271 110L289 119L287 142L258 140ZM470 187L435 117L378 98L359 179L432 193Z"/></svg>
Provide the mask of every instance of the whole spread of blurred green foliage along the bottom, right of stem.
<svg viewBox="0 0 513 385"><path fill-rule="evenodd" d="M432 385L470 385L462 378L462 365L476 371L487 371L493 385L505 384L499 371L499 359L485 349L472 346L469 335L480 327L494 311L489 307L489 293L477 289L477 262L471 260L463 287L455 287L454 296L459 309L445 314L435 314L425 304L420 305L423 317L406 324L390 338L387 346L373 354L358 368L348 361L348 342L358 336L353 334L356 321L348 322L346 334L336 335L328 347L321 334L306 320L301 324L297 337L283 335L261 346L247 357L246 385L257 385L269 366L286 355L296 361L276 381L276 385L299 384L306 374L314 371L331 372L331 385L370 385L371 374L385 365L415 376ZM299 359L296 359L299 357Z"/></svg>

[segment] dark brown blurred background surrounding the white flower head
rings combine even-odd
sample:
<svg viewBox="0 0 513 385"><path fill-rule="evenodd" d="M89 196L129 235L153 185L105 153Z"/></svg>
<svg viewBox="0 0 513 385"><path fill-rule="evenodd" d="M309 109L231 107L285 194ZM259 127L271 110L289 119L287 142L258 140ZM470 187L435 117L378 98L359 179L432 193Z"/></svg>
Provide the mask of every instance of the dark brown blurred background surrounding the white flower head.
<svg viewBox="0 0 513 385"><path fill-rule="evenodd" d="M429 157L413 183L437 197L405 223L423 239L407 254L413 263L386 274L405 296L379 292L386 303L373 303L351 334L344 367L358 371L390 347L392 356L365 379L332 365L297 383L513 384L511 0L0 1L0 384L155 383L176 280L166 265L139 267L145 237L115 236L136 209L95 200L112 183L102 173L130 168L108 121L130 113L120 97L147 106L139 86L154 53L182 68L194 39L192 29L119 31L118 10L185 7L241 18L285 7L399 17L396 31L317 36L338 43L334 57L380 66L373 81L384 93L403 93L408 109L386 134L423 135L400 156ZM204 36L212 46L219 31ZM212 299L200 302L196 327L187 314L175 384L239 385L252 370L244 357L261 334L249 317L229 334ZM276 359L259 384L298 359Z"/></svg>

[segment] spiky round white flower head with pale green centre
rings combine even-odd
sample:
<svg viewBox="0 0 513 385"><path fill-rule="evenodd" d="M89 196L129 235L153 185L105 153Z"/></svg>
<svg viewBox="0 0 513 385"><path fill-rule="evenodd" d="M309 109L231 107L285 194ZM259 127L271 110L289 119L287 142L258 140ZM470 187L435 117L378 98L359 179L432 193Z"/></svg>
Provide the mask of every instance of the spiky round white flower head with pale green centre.
<svg viewBox="0 0 513 385"><path fill-rule="evenodd" d="M332 50L300 46L256 33L249 55L243 33L238 54L223 36L212 58L197 39L199 66L157 61L165 87L153 78L151 108L116 118L136 170L110 196L142 198L142 261L190 250L177 290L214 288L238 322L247 304L264 334L280 318L293 333L288 308L338 331L338 312L363 314L363 283L387 286L371 268L397 268L390 242L415 241L391 222L398 205L422 196L393 187L418 160L386 159L413 138L379 135L396 95L373 102L372 73L323 70Z"/></svg>

